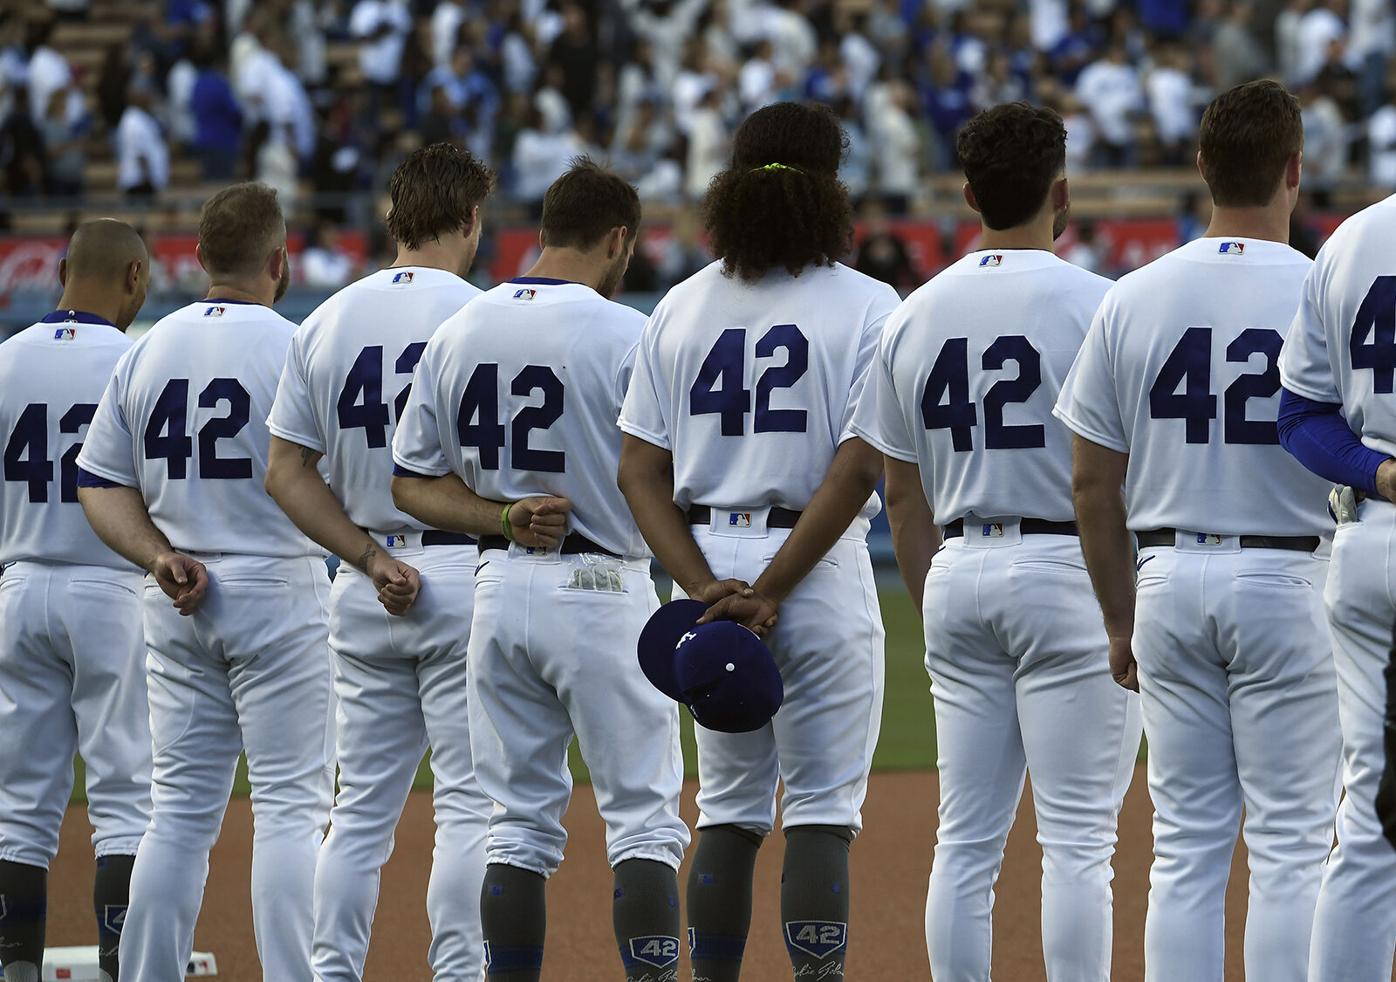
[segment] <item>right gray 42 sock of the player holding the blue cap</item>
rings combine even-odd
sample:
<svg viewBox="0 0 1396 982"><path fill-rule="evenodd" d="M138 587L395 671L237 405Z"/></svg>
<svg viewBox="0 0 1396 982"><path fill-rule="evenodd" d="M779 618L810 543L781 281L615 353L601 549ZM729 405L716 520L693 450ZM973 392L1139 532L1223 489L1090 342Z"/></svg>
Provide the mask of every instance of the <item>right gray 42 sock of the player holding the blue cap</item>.
<svg viewBox="0 0 1396 982"><path fill-rule="evenodd" d="M840 979L849 943L849 844L839 826L786 830L780 921L797 978Z"/></svg>

